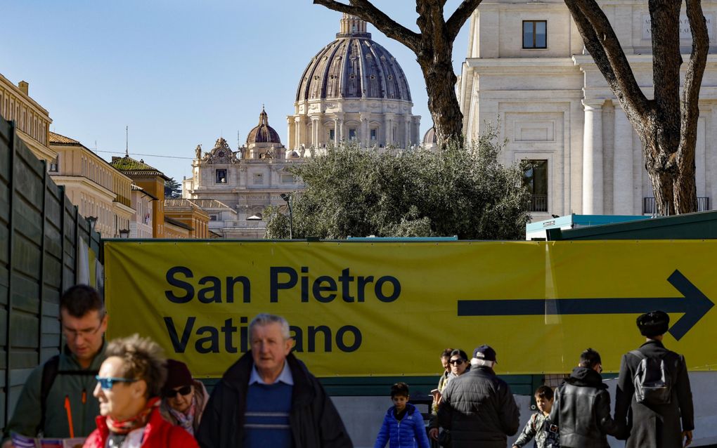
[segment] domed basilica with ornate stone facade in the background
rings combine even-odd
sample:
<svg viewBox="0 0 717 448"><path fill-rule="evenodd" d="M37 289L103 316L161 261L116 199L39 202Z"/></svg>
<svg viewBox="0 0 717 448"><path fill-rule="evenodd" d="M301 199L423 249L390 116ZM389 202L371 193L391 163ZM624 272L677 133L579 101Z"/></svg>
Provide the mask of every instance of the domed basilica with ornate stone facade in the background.
<svg viewBox="0 0 717 448"><path fill-rule="evenodd" d="M419 143L420 117L412 115L403 70L371 40L366 22L353 16L343 15L336 40L309 62L294 107L295 115L288 117L288 148L269 125L265 110L237 151L224 138L209 152L197 146L183 196L202 204L210 231L225 238L262 238L264 209L286 211L280 195L303 187L289 168L328 145L353 140L379 149ZM216 204L206 204L210 200Z"/></svg>

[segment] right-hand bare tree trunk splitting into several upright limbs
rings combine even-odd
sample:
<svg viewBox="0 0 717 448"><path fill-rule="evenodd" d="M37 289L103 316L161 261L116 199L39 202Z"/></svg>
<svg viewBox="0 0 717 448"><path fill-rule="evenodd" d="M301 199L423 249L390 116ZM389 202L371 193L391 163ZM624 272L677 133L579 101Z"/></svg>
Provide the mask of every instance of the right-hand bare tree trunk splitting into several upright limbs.
<svg viewBox="0 0 717 448"><path fill-rule="evenodd" d="M696 211L695 143L699 90L709 39L700 0L686 0L692 54L680 101L680 6L682 1L649 0L655 97L647 100L635 81L607 17L595 0L565 0L585 47L642 141L657 211Z"/></svg>

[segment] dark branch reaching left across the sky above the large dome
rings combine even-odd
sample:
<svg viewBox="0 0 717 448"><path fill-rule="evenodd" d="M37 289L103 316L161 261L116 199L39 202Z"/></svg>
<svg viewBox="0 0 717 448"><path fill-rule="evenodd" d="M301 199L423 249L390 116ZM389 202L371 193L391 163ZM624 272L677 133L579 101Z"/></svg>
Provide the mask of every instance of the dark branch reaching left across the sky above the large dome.
<svg viewBox="0 0 717 448"><path fill-rule="evenodd" d="M386 34L391 39L395 39L406 45L413 52L418 52L420 47L421 35L412 32L402 24L395 22L391 17L384 14L383 11L376 8L369 0L348 0L350 4L343 4L336 0L313 0L314 4L326 6L333 11L344 12L353 16L360 17L366 22L371 22L379 31Z"/></svg>

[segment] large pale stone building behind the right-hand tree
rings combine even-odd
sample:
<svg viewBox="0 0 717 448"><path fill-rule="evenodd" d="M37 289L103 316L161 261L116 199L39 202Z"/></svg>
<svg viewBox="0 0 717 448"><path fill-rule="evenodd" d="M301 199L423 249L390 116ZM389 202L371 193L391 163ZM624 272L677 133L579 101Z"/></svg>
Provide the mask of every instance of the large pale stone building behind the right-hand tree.
<svg viewBox="0 0 717 448"><path fill-rule="evenodd" d="M603 1L635 77L652 95L647 2ZM703 1L711 41L717 1ZM684 6L683 6L684 8ZM684 9L683 9L684 15ZM689 27L683 32L689 59ZM683 66L684 68L684 66ZM696 148L701 209L717 198L717 47L710 47L700 99ZM640 140L615 100L563 0L484 0L470 21L459 78L463 128L478 138L500 120L505 162L538 161L533 219L551 214L650 214L652 187Z"/></svg>

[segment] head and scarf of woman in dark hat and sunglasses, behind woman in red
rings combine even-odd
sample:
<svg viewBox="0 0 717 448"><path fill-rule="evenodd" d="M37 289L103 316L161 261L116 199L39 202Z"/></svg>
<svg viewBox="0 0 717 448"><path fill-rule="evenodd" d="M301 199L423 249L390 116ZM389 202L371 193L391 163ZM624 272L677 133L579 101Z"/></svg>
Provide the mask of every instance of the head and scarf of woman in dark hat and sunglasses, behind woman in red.
<svg viewBox="0 0 717 448"><path fill-rule="evenodd" d="M162 388L160 411L166 421L194 435L209 399L201 381L191 378L185 363L167 360L167 381Z"/></svg>

